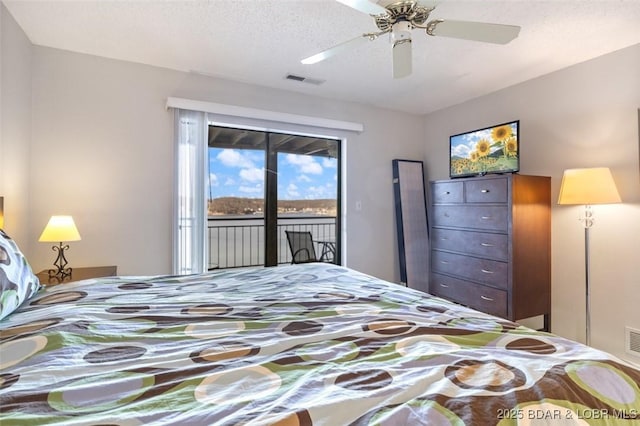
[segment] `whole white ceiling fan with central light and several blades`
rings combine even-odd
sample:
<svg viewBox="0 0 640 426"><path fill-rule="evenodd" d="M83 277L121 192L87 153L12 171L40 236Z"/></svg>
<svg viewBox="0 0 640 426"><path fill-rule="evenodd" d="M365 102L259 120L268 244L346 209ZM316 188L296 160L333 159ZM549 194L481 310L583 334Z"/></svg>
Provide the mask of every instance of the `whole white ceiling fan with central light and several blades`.
<svg viewBox="0 0 640 426"><path fill-rule="evenodd" d="M315 64L349 50L383 34L390 35L393 52L393 77L402 78L411 74L411 31L425 30L430 36L452 37L487 43L507 44L518 36L520 27L515 25L489 24L485 22L432 19L429 15L438 2L429 0L336 0L346 6L373 17L378 32L365 33L359 37L323 50L303 59L303 64Z"/></svg>

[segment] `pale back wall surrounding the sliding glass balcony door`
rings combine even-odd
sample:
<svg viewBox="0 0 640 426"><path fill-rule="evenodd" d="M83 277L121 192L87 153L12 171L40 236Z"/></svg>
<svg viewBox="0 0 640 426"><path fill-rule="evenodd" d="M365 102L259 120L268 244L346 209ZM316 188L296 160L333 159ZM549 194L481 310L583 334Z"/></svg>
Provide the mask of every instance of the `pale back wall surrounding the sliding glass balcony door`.
<svg viewBox="0 0 640 426"><path fill-rule="evenodd" d="M420 117L45 47L33 56L31 241L50 215L71 214L74 265L171 271L169 96L363 123L347 141L348 262L399 279L391 160L422 157ZM32 244L29 259L48 267L49 244Z"/></svg>

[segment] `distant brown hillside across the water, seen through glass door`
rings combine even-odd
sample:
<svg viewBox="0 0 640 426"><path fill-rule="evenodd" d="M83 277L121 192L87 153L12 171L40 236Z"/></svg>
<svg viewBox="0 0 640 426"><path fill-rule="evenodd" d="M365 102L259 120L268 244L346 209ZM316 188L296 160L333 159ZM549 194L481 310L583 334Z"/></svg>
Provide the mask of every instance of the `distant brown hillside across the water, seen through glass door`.
<svg viewBox="0 0 640 426"><path fill-rule="evenodd" d="M262 198L220 197L209 200L209 215L236 215L262 213ZM279 200L279 213L309 213L335 215L336 200Z"/></svg>

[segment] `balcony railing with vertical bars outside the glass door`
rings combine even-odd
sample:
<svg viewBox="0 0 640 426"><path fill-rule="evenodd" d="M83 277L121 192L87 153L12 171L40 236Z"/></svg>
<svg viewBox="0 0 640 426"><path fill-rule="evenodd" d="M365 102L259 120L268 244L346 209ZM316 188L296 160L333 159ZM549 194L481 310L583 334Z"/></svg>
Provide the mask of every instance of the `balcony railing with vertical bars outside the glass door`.
<svg viewBox="0 0 640 426"><path fill-rule="evenodd" d="M209 269L264 265L264 219L224 217L208 219ZM314 241L335 241L336 218L294 216L278 218L278 263L291 263L291 251L284 231L309 231ZM316 247L317 255L320 256Z"/></svg>

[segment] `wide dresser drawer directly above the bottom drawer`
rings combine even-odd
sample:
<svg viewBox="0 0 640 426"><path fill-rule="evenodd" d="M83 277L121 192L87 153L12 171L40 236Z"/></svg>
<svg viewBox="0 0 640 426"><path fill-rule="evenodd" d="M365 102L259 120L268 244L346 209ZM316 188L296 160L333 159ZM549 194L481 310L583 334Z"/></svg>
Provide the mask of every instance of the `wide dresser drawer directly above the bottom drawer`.
<svg viewBox="0 0 640 426"><path fill-rule="evenodd" d="M508 287L509 266L506 262L434 250L431 269L494 287Z"/></svg>

